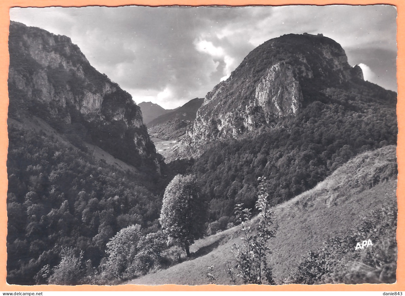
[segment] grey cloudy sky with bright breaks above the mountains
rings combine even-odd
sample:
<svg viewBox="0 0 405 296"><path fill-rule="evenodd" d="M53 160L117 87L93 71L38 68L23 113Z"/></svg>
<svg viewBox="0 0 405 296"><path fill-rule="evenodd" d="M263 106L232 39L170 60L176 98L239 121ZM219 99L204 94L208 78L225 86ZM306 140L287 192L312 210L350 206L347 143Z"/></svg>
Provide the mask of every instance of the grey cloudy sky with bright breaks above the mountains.
<svg viewBox="0 0 405 296"><path fill-rule="evenodd" d="M255 47L322 33L364 78L396 91L396 9L369 6L12 8L10 18L66 35L136 103L202 98Z"/></svg>

